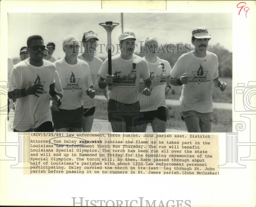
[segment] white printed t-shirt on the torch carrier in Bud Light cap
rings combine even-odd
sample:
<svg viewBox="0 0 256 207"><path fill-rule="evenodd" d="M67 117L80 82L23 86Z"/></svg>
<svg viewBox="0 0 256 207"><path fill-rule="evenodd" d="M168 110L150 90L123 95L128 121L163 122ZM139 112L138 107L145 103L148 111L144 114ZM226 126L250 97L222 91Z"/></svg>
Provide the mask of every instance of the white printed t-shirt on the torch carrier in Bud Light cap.
<svg viewBox="0 0 256 207"><path fill-rule="evenodd" d="M126 104L139 101L140 79L146 80L150 77L147 61L136 55L129 60L121 58L121 55L115 55L111 60L114 79L111 84L112 90L109 90L109 98ZM102 63L98 74L102 78L108 74L108 59Z"/></svg>

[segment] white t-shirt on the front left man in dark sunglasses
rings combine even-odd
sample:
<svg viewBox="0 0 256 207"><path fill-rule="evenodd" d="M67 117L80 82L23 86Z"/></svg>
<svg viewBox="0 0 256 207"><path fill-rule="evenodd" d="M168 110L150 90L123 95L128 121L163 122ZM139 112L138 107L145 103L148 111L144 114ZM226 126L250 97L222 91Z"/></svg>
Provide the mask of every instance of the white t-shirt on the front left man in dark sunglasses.
<svg viewBox="0 0 256 207"><path fill-rule="evenodd" d="M21 61L13 68L9 79L9 91L24 89L28 86L38 84L44 86L44 93L28 95L17 99L15 106L14 128L18 131L25 131L31 128L31 124L38 126L46 121L52 121L50 111L49 86L54 83L56 67L53 63L43 60L40 67L32 66L30 58ZM13 85L15 84L15 86ZM16 128L18 126L18 128Z"/></svg>

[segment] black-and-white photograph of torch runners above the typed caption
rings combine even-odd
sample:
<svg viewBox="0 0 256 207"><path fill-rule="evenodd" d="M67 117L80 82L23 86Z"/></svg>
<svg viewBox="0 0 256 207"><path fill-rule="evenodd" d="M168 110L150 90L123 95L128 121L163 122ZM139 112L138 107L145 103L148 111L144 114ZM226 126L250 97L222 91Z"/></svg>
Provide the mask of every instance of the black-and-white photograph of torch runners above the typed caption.
<svg viewBox="0 0 256 207"><path fill-rule="evenodd" d="M221 132L232 14L8 13L8 78L9 131Z"/></svg>

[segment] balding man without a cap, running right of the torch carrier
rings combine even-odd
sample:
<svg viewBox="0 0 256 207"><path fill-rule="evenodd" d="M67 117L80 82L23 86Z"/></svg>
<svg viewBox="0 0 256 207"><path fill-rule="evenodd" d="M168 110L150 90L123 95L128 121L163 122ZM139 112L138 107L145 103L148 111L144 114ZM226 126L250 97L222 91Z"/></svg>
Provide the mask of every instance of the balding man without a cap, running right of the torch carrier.
<svg viewBox="0 0 256 207"><path fill-rule="evenodd" d="M141 97L140 107L142 117L138 120L138 132L145 132L145 124L151 123L153 132L165 132L166 130L166 103L165 95L172 93L170 86L171 66L168 61L157 57L158 42L154 37L145 40L143 57L150 72L153 89L150 96Z"/></svg>

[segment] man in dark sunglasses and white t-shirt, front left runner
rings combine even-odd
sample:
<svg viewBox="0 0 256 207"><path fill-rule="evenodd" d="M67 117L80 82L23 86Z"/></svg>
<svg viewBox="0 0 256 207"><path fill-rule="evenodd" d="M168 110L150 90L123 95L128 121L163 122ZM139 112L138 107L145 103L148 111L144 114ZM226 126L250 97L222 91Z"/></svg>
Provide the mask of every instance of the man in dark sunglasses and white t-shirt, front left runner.
<svg viewBox="0 0 256 207"><path fill-rule="evenodd" d="M50 97L58 103L60 97L55 92L56 66L43 60L44 50L40 35L28 37L30 58L16 64L11 72L8 97L17 99L14 132L53 132Z"/></svg>

